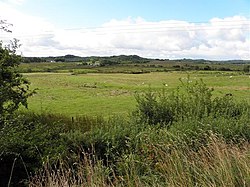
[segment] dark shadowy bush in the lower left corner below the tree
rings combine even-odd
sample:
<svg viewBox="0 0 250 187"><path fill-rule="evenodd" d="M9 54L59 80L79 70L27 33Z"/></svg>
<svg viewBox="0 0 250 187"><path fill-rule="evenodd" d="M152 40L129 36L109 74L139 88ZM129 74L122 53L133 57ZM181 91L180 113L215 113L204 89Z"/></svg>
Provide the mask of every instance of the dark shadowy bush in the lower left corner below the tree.
<svg viewBox="0 0 250 187"><path fill-rule="evenodd" d="M74 157L64 134L79 131L81 134L102 124L101 118L62 115L19 113L0 128L0 186L10 178L12 182L27 178L40 169L49 158L56 164L59 159ZM7 180L7 181L6 181ZM5 184L5 185L3 185Z"/></svg>

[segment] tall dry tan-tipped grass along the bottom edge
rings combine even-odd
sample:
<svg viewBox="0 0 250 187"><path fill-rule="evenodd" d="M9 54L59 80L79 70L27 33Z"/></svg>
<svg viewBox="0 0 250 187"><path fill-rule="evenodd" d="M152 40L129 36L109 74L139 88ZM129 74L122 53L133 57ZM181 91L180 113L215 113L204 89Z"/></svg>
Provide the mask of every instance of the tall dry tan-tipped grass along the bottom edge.
<svg viewBox="0 0 250 187"><path fill-rule="evenodd" d="M88 155L74 169L45 165L29 186L249 186L250 144L228 144L213 134L207 138L198 150L185 143L147 144L144 155L130 152L116 166Z"/></svg>

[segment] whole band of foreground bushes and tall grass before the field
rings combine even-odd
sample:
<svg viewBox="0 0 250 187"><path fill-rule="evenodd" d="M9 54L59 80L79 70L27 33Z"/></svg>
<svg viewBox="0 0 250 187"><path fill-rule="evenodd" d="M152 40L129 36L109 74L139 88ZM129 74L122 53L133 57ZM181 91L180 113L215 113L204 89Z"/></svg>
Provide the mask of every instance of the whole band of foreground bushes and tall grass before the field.
<svg viewBox="0 0 250 187"><path fill-rule="evenodd" d="M0 183L249 186L249 104L203 82L147 94L130 119L17 114L0 130Z"/></svg>

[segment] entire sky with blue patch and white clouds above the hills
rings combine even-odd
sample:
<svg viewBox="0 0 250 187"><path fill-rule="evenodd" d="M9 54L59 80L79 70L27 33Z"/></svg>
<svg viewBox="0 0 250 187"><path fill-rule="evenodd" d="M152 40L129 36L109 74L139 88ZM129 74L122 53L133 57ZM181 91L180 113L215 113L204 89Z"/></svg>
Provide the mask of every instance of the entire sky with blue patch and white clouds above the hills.
<svg viewBox="0 0 250 187"><path fill-rule="evenodd" d="M0 0L24 56L250 59L250 0Z"/></svg>

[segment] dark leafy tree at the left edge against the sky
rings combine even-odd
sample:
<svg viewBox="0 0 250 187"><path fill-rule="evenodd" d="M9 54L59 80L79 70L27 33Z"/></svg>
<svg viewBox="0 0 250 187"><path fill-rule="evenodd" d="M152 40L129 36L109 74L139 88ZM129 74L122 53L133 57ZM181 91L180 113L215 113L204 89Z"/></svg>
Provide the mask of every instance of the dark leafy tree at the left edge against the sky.
<svg viewBox="0 0 250 187"><path fill-rule="evenodd" d="M0 31L11 32L8 26L0 20ZM27 98L34 93L30 90L29 81L17 71L22 61L21 56L16 54L19 47L17 39L8 46L3 46L0 41L0 124L20 105L27 107Z"/></svg>

